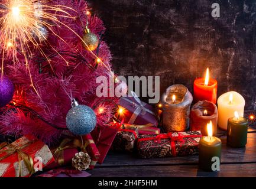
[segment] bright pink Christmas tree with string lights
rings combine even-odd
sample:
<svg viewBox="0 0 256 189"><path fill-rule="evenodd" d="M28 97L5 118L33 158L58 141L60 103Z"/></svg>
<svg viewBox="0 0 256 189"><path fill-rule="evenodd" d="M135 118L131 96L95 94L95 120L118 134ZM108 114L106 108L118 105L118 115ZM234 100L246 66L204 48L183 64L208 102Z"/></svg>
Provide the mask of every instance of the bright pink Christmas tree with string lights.
<svg viewBox="0 0 256 189"><path fill-rule="evenodd" d="M12 1L1 3L8 5ZM20 2L27 1L33 2ZM46 24L40 33L43 37L32 37L25 49L21 49L23 41L17 39L19 36L15 38L15 46L10 47L15 48L12 53L8 54L8 49L1 43L4 75L14 83L15 93L9 105L0 110L0 133L15 136L32 133L50 144L65 131L66 115L73 98L95 110L98 125L111 120L112 109L118 99L99 98L95 94L99 85L96 78L109 77L111 71L111 53L105 41L101 40L105 31L101 19L89 14L85 1L38 3L43 7L61 7L63 12L49 8L48 14L54 15L56 20L44 18L43 23ZM1 11L1 14L2 17L6 13ZM92 51L81 40L86 26L99 39L97 48ZM1 37L4 36L4 30L0 32ZM22 53L24 50L30 53Z"/></svg>

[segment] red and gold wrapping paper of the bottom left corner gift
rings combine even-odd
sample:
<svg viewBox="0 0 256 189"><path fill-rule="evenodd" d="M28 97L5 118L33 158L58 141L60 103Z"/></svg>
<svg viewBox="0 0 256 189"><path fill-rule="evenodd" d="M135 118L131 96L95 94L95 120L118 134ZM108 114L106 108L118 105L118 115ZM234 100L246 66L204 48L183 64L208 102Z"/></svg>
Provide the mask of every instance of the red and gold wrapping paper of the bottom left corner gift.
<svg viewBox="0 0 256 189"><path fill-rule="evenodd" d="M20 149L20 151L24 152L25 154L30 155L34 161L34 165L38 163L35 157L41 157L43 160L42 168L46 167L46 165L51 164L51 162L54 161L53 154L51 154L48 146L32 135L25 135L17 141L12 142L11 145ZM5 146L0 150L0 158L3 158L5 155L7 155L7 152L4 152L7 149L8 146ZM23 159L21 160L21 165L21 177L30 177L31 175L28 172ZM35 172L36 171L37 170L35 170ZM20 166L17 152L8 155L8 157L0 161L0 177L19 177L19 175Z"/></svg>

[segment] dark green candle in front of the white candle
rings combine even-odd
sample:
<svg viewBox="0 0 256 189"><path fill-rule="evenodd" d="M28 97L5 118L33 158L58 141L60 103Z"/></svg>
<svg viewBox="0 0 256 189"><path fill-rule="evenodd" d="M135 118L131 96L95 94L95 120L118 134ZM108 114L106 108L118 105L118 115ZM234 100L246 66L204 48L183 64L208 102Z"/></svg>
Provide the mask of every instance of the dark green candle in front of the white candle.
<svg viewBox="0 0 256 189"><path fill-rule="evenodd" d="M228 119L227 144L232 147L244 147L247 144L248 121L235 112L234 118Z"/></svg>

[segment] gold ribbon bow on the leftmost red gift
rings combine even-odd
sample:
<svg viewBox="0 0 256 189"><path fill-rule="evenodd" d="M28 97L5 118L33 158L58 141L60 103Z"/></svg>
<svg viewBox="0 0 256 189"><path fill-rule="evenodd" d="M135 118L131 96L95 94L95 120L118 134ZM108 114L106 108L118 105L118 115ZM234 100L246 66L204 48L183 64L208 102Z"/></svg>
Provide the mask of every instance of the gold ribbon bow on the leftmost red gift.
<svg viewBox="0 0 256 189"><path fill-rule="evenodd" d="M27 168L29 174L32 175L35 172L33 158L30 155L28 155L27 153L23 152L22 149L33 144L33 142L34 141L28 141L23 146L14 146L12 144L8 144L8 142L3 142L2 144L0 144L0 155L2 153L6 153L6 155L2 156L0 158L0 161L4 160L5 158L7 158L10 155L15 154L17 152L18 163L19 163L18 164L19 165L19 177L22 177L22 164L21 164L22 160L24 161L25 167ZM6 149L2 149L5 147L6 147Z"/></svg>

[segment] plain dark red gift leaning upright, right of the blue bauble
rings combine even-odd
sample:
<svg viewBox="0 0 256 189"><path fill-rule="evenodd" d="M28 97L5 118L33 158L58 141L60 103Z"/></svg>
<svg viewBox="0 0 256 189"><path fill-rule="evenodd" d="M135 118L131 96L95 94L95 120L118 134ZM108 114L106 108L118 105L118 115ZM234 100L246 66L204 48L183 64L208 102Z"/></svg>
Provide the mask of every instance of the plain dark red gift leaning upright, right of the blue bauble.
<svg viewBox="0 0 256 189"><path fill-rule="evenodd" d="M113 126L96 126L91 132L93 141L98 148L99 154L101 154L98 159L99 164L102 164L106 154L108 154L117 132L118 128Z"/></svg>

